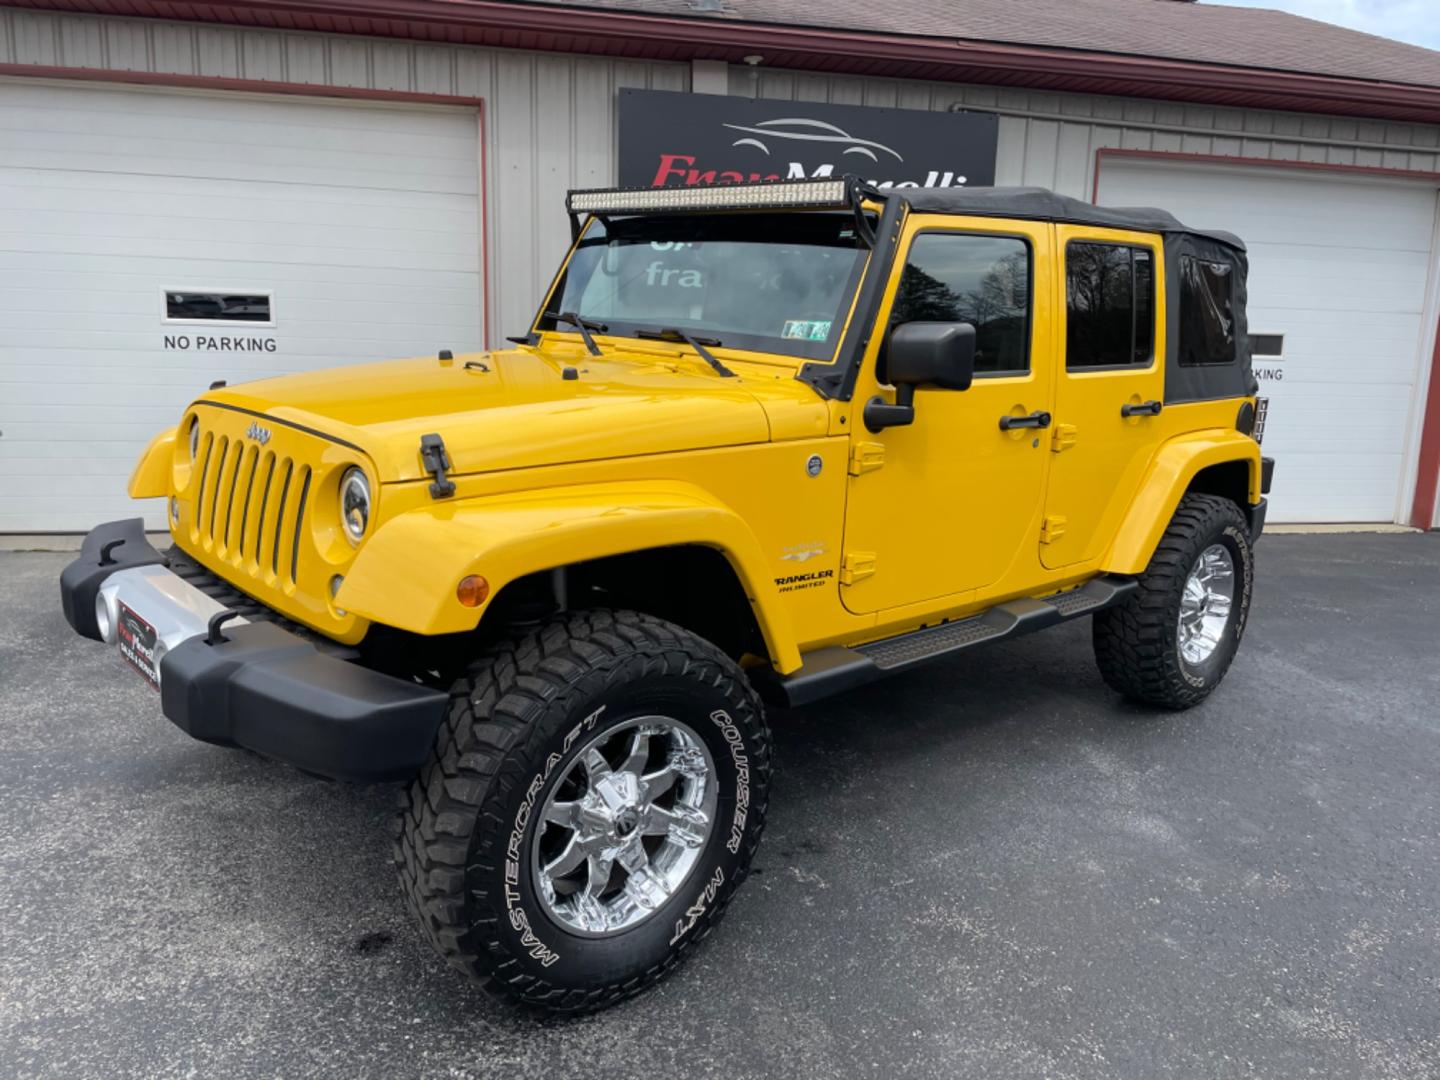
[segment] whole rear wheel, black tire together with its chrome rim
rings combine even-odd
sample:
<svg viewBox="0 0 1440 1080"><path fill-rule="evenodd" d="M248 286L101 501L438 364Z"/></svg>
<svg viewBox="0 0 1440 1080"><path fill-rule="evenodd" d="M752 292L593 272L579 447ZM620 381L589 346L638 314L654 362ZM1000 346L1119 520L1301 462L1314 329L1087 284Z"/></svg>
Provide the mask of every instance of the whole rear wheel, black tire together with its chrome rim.
<svg viewBox="0 0 1440 1080"><path fill-rule="evenodd" d="M1254 549L1240 508L1185 495L1139 589L1094 616L1094 658L1129 698L1189 708L1220 685L1250 613Z"/></svg>

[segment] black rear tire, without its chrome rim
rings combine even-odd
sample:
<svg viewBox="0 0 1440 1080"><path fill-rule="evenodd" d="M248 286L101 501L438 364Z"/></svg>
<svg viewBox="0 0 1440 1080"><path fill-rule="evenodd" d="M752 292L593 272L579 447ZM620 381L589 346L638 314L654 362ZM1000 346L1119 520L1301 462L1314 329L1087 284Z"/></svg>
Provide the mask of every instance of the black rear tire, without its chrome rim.
<svg viewBox="0 0 1440 1080"><path fill-rule="evenodd" d="M1191 665L1179 649L1179 603L1191 567L1211 544L1230 552L1236 595L1220 644L1202 664ZM1240 648L1253 580L1254 552L1240 507L1218 495L1185 495L1139 589L1094 616L1094 660L1104 681L1128 698L1162 708L1204 701Z"/></svg>

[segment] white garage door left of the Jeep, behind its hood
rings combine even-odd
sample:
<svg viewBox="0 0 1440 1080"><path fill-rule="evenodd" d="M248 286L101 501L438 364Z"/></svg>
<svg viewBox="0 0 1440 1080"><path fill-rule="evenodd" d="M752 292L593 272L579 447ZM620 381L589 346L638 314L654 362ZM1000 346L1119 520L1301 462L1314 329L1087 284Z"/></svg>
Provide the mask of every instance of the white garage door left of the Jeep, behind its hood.
<svg viewBox="0 0 1440 1080"><path fill-rule="evenodd" d="M138 452L212 380L478 347L477 137L471 109L0 82L0 533L134 516Z"/></svg>

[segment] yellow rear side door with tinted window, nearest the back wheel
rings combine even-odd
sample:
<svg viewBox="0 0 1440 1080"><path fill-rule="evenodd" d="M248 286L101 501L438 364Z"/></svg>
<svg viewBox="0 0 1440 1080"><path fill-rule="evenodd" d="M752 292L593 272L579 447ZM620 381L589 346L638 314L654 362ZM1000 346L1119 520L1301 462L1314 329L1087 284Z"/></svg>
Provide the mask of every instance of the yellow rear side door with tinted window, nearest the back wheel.
<svg viewBox="0 0 1440 1080"><path fill-rule="evenodd" d="M1040 534L1050 569L1104 554L1155 452L1165 390L1159 238L1061 225L1056 240L1066 312Z"/></svg>

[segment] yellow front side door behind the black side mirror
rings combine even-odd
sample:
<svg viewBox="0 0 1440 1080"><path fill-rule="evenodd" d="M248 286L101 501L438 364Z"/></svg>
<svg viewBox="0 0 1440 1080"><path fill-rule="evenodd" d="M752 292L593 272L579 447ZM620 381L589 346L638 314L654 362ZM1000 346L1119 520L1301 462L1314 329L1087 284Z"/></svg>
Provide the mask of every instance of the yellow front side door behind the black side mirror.
<svg viewBox="0 0 1440 1080"><path fill-rule="evenodd" d="M881 304L881 325L975 325L968 390L922 387L914 423L865 431L865 402L894 397L876 334L854 425L841 598L857 613L953 598L1037 570L1050 431L1001 429L1001 418L1048 423L1054 354L1054 226L912 216ZM877 366L881 372L877 376Z"/></svg>

